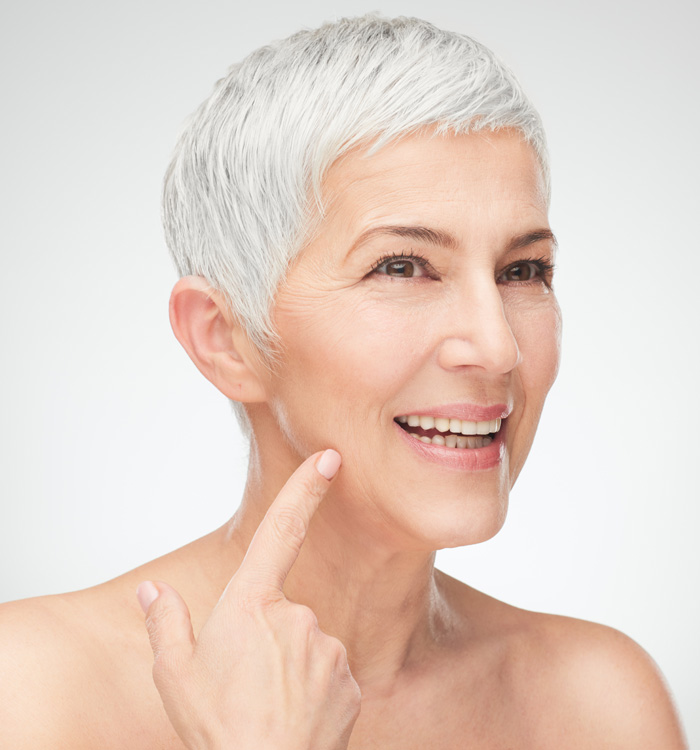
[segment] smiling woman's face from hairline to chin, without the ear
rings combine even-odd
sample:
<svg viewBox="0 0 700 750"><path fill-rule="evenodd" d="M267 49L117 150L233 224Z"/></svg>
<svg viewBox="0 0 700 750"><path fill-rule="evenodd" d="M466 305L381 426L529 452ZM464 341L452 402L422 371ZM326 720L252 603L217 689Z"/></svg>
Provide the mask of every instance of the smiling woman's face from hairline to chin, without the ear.
<svg viewBox="0 0 700 750"><path fill-rule="evenodd" d="M559 360L534 152L512 131L411 136L351 152L323 189L320 231L278 294L258 443L290 463L338 450L330 503L401 546L488 539Z"/></svg>

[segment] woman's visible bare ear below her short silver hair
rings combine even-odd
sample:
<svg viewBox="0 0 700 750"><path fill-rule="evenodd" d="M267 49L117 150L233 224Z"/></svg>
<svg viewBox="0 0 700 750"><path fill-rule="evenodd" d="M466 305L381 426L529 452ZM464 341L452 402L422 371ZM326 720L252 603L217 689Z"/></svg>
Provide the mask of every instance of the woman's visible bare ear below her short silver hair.
<svg viewBox="0 0 700 750"><path fill-rule="evenodd" d="M170 325L197 369L225 396L267 400L263 368L221 295L201 276L184 276L170 295Z"/></svg>

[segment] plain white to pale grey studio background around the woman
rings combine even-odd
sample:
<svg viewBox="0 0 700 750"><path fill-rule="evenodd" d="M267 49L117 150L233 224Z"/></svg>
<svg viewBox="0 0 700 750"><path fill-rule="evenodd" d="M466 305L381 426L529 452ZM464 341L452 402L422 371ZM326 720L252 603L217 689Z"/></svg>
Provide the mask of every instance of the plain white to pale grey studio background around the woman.
<svg viewBox="0 0 700 750"><path fill-rule="evenodd" d="M185 116L229 64L341 15L491 46L549 134L562 370L504 530L439 566L612 625L700 746L698 27L690 0L61 3L3 10L0 600L83 588L235 510L245 448L179 349L159 226Z"/></svg>

